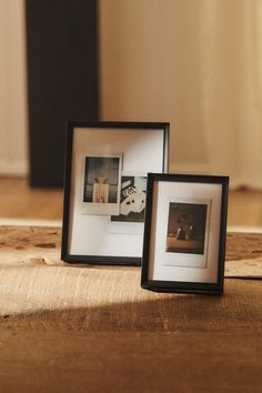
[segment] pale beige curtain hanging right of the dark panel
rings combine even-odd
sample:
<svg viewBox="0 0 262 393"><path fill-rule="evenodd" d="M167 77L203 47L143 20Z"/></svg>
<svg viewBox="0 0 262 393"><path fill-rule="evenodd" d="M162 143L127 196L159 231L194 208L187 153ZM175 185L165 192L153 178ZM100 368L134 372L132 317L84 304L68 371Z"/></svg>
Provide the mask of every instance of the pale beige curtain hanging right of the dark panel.
<svg viewBox="0 0 262 393"><path fill-rule="evenodd" d="M262 0L101 0L103 119L170 121L172 172L262 189Z"/></svg>

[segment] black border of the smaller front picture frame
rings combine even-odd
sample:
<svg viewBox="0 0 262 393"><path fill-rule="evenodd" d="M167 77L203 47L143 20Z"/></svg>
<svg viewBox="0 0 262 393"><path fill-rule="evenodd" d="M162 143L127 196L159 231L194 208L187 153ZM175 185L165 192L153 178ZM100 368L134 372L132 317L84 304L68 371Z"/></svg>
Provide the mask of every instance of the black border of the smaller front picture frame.
<svg viewBox="0 0 262 393"><path fill-rule="evenodd" d="M221 214L220 214L220 239L219 239L219 265L216 283L181 282L181 281L158 281L148 280L149 253L150 253L150 230L152 221L152 202L154 182L184 182L221 184ZM228 198L229 198L229 177L218 175L195 175L195 174L148 174L148 192L144 220L144 241L142 256L141 286L157 292L182 292L182 293L223 293L224 259L226 242L226 218L228 218Z"/></svg>

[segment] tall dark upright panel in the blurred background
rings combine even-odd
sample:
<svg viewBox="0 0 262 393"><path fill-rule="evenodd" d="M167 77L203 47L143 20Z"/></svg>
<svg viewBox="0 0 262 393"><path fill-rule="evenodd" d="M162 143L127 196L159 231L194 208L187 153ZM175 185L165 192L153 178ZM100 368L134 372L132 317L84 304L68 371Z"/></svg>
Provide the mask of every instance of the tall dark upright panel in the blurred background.
<svg viewBox="0 0 262 393"><path fill-rule="evenodd" d="M61 187L67 120L98 120L95 0L27 0L30 182Z"/></svg>

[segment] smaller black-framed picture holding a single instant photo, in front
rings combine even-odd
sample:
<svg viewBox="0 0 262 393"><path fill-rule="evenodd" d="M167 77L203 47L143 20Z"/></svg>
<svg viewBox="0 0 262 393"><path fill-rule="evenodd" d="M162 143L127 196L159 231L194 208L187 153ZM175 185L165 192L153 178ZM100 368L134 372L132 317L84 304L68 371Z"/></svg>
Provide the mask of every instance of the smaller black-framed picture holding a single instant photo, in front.
<svg viewBox="0 0 262 393"><path fill-rule="evenodd" d="M228 177L148 174L141 285L223 292Z"/></svg>

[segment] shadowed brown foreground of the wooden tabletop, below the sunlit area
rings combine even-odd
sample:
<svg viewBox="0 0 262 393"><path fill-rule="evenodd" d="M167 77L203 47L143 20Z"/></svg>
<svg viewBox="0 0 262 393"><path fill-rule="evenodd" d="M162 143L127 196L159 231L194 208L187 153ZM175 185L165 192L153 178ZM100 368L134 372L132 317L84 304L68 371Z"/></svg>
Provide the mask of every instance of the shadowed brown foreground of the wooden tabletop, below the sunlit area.
<svg viewBox="0 0 262 393"><path fill-rule="evenodd" d="M228 280L220 298L155 295L6 315L1 391L260 392L261 293L259 281Z"/></svg>

